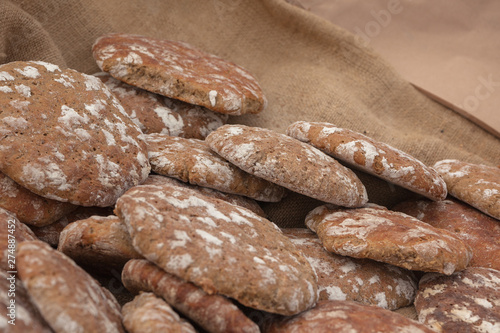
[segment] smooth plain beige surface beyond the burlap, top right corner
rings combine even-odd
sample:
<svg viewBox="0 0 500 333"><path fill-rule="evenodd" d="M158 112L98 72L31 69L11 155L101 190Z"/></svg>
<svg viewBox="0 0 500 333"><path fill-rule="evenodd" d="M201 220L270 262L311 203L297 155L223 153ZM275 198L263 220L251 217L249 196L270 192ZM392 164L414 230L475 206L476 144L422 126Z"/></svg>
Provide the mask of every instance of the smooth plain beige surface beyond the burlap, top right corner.
<svg viewBox="0 0 500 333"><path fill-rule="evenodd" d="M500 1L294 0L500 137Z"/></svg>

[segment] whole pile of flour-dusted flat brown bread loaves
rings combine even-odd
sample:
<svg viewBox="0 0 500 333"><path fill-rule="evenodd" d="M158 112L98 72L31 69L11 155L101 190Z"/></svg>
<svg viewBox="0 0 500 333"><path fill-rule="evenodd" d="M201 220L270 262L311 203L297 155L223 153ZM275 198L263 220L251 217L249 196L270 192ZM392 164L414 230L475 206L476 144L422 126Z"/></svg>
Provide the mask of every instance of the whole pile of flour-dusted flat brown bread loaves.
<svg viewBox="0 0 500 333"><path fill-rule="evenodd" d="M14 332L500 332L499 168L431 167L324 122L240 125L266 109L256 79L183 42L92 51L95 75L0 66ZM415 200L370 202L363 172ZM260 205L290 192L320 202L301 228Z"/></svg>

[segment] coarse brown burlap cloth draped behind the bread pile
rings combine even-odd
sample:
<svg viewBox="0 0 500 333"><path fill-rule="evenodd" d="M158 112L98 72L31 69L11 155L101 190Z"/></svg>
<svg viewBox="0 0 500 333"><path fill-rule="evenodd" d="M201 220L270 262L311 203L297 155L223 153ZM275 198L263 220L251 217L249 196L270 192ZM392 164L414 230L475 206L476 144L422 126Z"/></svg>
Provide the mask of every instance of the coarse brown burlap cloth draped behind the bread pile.
<svg viewBox="0 0 500 333"><path fill-rule="evenodd" d="M426 164L500 164L500 140L416 91L354 35L284 0L0 0L0 21L0 63L45 60L91 74L98 71L91 46L102 34L184 40L258 78L267 110L234 123L284 132L297 120L327 121ZM359 174L371 202L410 196ZM264 209L280 226L303 226L319 204L291 194Z"/></svg>

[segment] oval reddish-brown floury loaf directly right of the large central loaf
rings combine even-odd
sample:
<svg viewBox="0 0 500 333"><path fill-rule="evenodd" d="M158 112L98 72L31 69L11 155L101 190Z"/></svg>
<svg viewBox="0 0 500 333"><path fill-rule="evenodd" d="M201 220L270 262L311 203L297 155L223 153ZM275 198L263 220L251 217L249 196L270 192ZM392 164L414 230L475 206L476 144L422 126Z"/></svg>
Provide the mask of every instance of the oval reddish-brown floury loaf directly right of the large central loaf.
<svg viewBox="0 0 500 333"><path fill-rule="evenodd" d="M410 270L450 275L464 270L472 257L471 248L453 233L374 204L319 206L307 215L306 225L328 251Z"/></svg>

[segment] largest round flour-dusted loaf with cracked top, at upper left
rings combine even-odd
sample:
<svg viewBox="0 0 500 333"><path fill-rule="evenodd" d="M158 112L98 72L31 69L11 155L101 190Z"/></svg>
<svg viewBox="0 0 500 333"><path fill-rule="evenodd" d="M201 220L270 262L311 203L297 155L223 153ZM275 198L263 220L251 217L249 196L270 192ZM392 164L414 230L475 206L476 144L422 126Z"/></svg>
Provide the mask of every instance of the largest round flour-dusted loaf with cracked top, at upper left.
<svg viewBox="0 0 500 333"><path fill-rule="evenodd" d="M0 105L0 171L40 196L111 206L150 172L139 127L95 76L4 64Z"/></svg>

